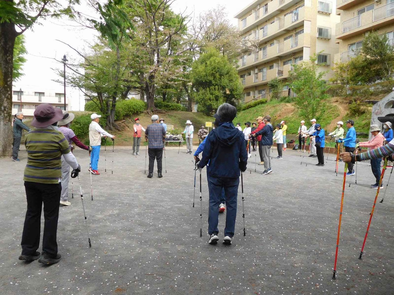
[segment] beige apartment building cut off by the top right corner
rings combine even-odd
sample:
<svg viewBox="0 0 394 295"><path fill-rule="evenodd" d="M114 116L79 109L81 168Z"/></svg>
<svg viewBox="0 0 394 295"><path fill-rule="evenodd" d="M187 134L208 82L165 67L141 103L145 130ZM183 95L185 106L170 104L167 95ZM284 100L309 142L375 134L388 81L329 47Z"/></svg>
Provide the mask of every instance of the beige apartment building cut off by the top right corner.
<svg viewBox="0 0 394 295"><path fill-rule="evenodd" d="M368 31L387 34L394 45L394 0L337 0L335 37L339 53L335 62L345 63L360 53L362 41Z"/></svg>

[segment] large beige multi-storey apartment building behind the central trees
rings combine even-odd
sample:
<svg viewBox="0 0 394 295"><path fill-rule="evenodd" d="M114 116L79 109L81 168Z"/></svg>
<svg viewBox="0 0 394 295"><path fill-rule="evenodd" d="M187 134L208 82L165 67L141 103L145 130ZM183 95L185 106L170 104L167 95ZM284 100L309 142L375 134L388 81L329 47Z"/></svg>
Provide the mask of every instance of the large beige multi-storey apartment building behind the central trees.
<svg viewBox="0 0 394 295"><path fill-rule="evenodd" d="M330 66L338 53L335 42L336 1L342 0L256 0L235 18L242 32L243 50L238 74L244 85L244 102L268 97L267 83L286 80L292 65L318 56L319 70L333 76ZM286 90L284 86L283 90Z"/></svg>

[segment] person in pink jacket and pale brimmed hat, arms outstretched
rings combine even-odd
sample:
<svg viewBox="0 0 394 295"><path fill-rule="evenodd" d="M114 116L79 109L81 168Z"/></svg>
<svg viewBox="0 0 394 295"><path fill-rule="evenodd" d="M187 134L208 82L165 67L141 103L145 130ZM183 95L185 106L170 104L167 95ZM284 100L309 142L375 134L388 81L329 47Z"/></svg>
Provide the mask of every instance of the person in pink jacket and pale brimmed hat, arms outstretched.
<svg viewBox="0 0 394 295"><path fill-rule="evenodd" d="M377 147L383 146L383 142L385 141L385 136L383 136L383 134L379 132L380 130L381 129L378 125L372 124L370 126L370 133L372 135L371 140L367 142L359 142L358 144L356 144L356 147L368 147L369 149L376 149ZM379 187L379 181L381 175L380 172L381 161L382 158L371 159L371 169L376 180L374 184L371 184L371 188ZM383 188L383 185L380 188Z"/></svg>

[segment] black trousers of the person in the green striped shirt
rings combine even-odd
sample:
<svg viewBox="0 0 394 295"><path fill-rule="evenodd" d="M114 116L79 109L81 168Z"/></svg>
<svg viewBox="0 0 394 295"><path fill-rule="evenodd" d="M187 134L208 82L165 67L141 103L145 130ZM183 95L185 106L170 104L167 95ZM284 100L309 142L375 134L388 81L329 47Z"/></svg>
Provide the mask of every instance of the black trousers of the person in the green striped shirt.
<svg viewBox="0 0 394 295"><path fill-rule="evenodd" d="M61 184L24 182L27 211L22 233L22 255L34 255L40 244L41 208L44 203L43 251L50 257L58 254L58 231Z"/></svg>

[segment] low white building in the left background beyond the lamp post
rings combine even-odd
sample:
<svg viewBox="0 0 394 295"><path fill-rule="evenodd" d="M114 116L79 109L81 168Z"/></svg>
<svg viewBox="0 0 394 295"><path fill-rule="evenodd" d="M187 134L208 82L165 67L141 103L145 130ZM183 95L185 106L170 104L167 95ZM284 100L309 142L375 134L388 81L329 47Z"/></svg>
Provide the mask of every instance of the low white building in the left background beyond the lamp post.
<svg viewBox="0 0 394 295"><path fill-rule="evenodd" d="M34 110L40 103L50 103L52 106L64 110L63 91L48 90L44 87L26 88L13 87L12 89L12 114L23 112L25 118L32 118ZM66 96L66 109L69 103Z"/></svg>

